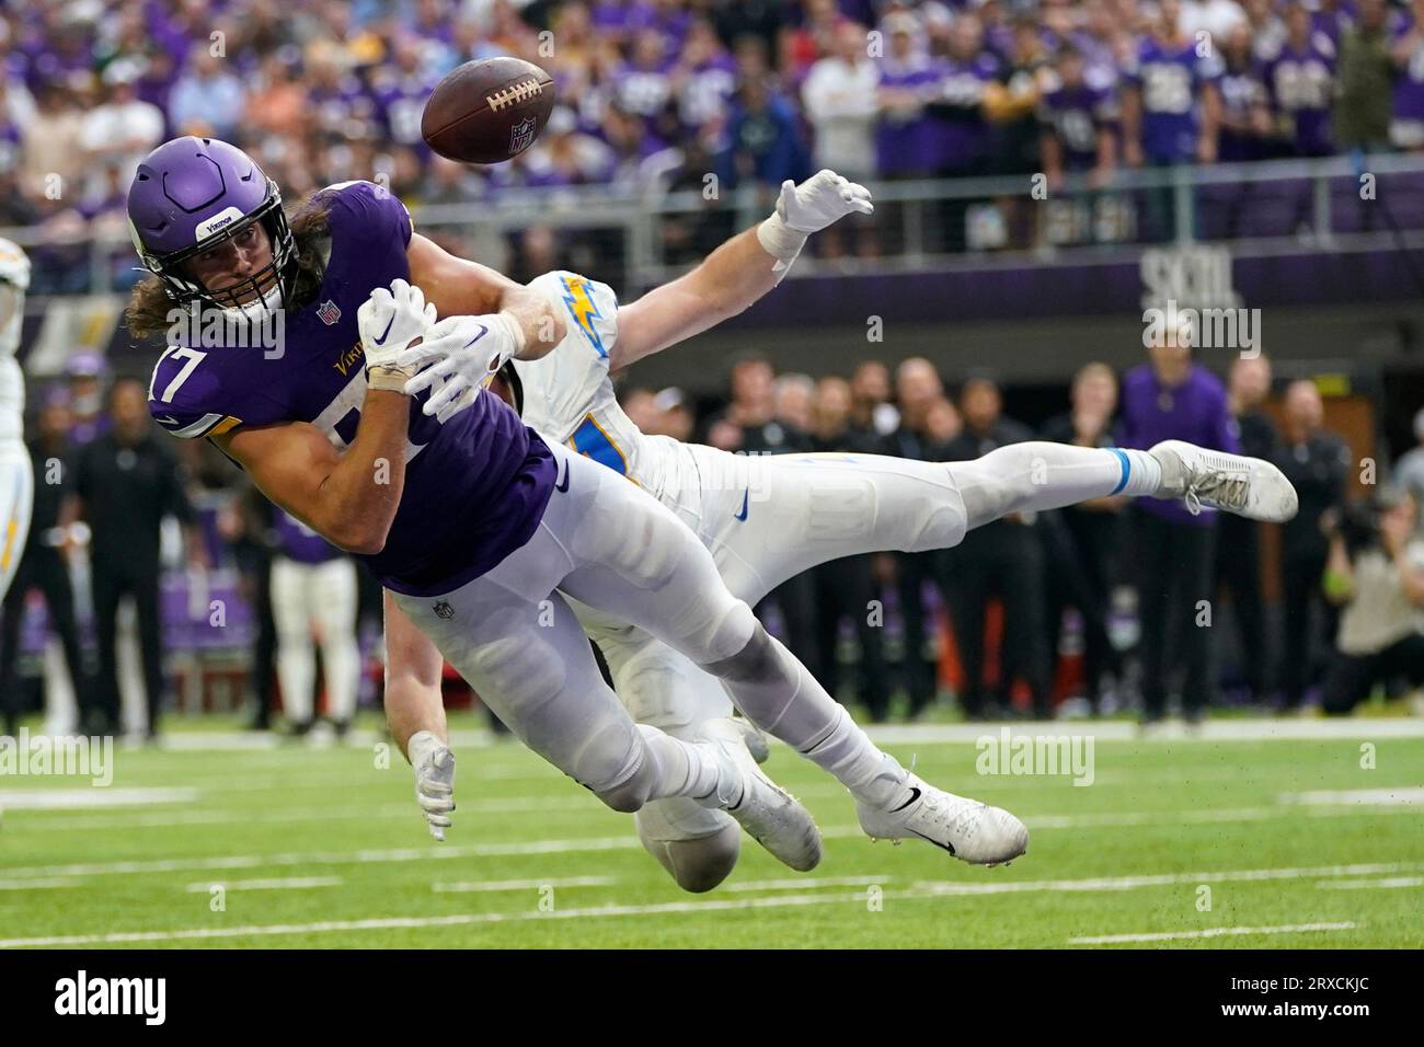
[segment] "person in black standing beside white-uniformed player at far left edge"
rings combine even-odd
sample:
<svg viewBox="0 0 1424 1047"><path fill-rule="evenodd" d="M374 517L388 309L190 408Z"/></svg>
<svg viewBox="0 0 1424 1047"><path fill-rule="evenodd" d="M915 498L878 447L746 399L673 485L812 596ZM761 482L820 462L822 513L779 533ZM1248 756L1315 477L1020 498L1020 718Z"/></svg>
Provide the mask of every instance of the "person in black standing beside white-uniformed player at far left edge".
<svg viewBox="0 0 1424 1047"><path fill-rule="evenodd" d="M74 588L70 584L70 553L73 541L68 528L60 526L60 510L67 493L73 489L73 447L66 433L70 424L68 402L60 389L44 397L40 409L38 432L27 446L34 464L34 510L30 517L30 536L14 581L4 597L0 614L4 617L0 631L0 705L4 712L4 734L14 735L19 725L20 685L16 681L16 667L20 655L20 624L30 590L38 588L44 595L44 608L50 628L58 635L64 650L64 664L70 671L70 684L80 709L80 724L84 731L95 725L93 688L84 658L80 652L78 624L74 618Z"/></svg>

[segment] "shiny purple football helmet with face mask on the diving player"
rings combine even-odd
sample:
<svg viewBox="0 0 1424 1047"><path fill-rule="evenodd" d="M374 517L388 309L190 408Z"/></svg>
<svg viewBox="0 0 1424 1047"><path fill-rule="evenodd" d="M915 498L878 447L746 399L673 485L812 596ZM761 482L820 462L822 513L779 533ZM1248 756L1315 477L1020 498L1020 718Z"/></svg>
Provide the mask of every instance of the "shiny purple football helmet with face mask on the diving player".
<svg viewBox="0 0 1424 1047"><path fill-rule="evenodd" d="M185 265L262 222L272 262L244 279L206 288ZM268 308L286 302L296 275L296 239L276 182L242 150L216 138L174 138L138 165L128 189L128 225L144 266L175 302ZM281 296L271 301L273 289Z"/></svg>

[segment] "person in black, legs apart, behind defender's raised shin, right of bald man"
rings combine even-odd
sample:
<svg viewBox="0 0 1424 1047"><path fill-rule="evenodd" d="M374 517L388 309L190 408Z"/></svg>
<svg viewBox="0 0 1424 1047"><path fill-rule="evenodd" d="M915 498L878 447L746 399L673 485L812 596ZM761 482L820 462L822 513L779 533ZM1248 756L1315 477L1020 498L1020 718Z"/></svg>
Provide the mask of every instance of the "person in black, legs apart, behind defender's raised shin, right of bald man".
<svg viewBox="0 0 1424 1047"><path fill-rule="evenodd" d="M997 447L1034 439L1027 427L1004 417L998 386L987 377L964 383L960 415L964 429L946 447L948 462L967 462ZM1048 637L1044 628L1044 550L1034 514L1011 513L975 527L956 548L941 553L941 588L954 620L954 641L964 667L964 715L980 719L1011 708L1010 685L1021 678L1034 715L1052 717ZM998 694L985 681L984 620L997 595L1004 608Z"/></svg>

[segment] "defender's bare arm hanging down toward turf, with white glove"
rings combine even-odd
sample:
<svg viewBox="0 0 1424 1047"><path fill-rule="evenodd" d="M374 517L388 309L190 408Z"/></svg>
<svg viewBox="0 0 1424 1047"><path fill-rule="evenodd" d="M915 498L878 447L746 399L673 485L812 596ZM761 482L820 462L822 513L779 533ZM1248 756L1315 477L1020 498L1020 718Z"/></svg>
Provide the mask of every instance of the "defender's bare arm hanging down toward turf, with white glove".
<svg viewBox="0 0 1424 1047"><path fill-rule="evenodd" d="M440 672L444 658L424 632L386 598L386 722L416 772L416 803L430 835L444 839L454 811L454 754L446 732Z"/></svg>

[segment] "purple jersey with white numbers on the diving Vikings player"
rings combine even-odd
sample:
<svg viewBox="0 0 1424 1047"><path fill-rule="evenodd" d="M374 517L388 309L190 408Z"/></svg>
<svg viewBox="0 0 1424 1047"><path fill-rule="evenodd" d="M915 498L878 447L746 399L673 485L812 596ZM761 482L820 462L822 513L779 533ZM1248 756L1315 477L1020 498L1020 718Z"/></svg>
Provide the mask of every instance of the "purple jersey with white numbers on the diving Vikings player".
<svg viewBox="0 0 1424 1047"><path fill-rule="evenodd" d="M356 436L366 373L356 311L410 278L410 217L384 188L343 182L329 207L330 261L315 298L286 315L285 352L169 346L154 366L150 410L188 439L308 422L343 449ZM484 574L528 541L554 486L554 459L518 416L481 393L446 424L410 403L406 486L386 547L360 557L383 585L434 595Z"/></svg>

